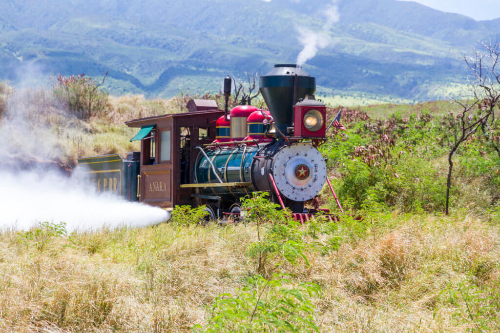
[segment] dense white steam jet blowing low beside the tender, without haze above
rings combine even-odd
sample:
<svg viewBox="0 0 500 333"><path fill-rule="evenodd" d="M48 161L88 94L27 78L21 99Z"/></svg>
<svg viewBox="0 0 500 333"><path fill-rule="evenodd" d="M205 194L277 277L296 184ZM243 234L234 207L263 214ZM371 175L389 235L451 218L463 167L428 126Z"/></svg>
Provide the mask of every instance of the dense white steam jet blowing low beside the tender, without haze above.
<svg viewBox="0 0 500 333"><path fill-rule="evenodd" d="M167 219L160 208L96 194L78 177L56 172L0 171L0 230L27 230L40 222L66 223L68 233L103 227L144 227Z"/></svg>

